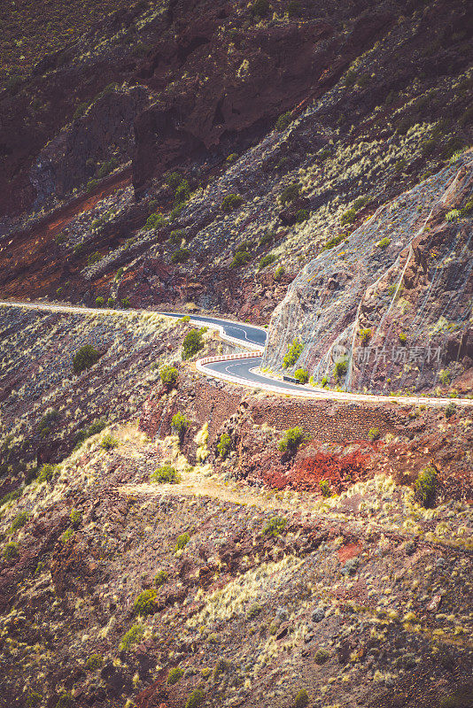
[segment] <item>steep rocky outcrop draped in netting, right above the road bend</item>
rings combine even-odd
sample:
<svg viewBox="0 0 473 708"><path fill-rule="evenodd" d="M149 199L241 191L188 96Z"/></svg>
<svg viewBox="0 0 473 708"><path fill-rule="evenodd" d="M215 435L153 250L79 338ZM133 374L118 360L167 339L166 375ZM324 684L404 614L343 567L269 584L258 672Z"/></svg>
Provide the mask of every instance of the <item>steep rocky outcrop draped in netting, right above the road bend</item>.
<svg viewBox="0 0 473 708"><path fill-rule="evenodd" d="M291 367L314 381L426 390L443 370L468 390L472 188L467 152L310 261L275 310L265 365L281 370L297 340ZM337 361L345 362L338 377Z"/></svg>

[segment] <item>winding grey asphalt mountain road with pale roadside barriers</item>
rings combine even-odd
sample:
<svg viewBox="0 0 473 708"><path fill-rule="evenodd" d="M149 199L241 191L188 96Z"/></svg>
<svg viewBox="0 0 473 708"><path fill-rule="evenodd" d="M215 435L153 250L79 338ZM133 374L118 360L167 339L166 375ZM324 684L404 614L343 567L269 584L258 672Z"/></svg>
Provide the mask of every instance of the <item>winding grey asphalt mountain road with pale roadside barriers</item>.
<svg viewBox="0 0 473 708"><path fill-rule="evenodd" d="M74 305L49 304L49 303L21 303L0 301L0 306L20 307L27 310L39 310L48 312L74 312L97 314L124 314L155 312L164 317L181 319L183 315L178 312L156 312L150 310L111 310L107 308L81 307ZM248 353L222 354L215 357L205 357L198 359L196 367L200 373L222 381L231 381L241 386L248 386L252 389L264 389L273 393L286 394L288 396L298 396L302 398L330 399L337 401L350 401L358 403L393 403L399 404L423 404L431 406L445 406L449 403L461 406L473 406L473 399L469 398L435 398L431 396L376 396L359 393L348 393L345 391L333 391L322 389L306 384L301 386L283 381L275 377L267 376L260 372L260 363L266 345L267 333L263 327L249 325L246 322L235 322L230 319L220 319L206 317L205 315L189 315L190 321L196 325L205 325L217 329L221 338L227 342L237 344L239 347L248 349Z"/></svg>

